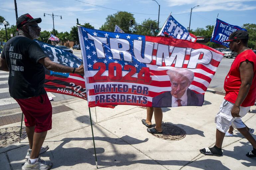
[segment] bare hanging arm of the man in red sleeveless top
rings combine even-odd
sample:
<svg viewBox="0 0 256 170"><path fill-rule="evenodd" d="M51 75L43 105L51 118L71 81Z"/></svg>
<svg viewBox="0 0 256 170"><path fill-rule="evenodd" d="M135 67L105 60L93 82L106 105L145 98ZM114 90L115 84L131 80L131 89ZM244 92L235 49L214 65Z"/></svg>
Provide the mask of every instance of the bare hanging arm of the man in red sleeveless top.
<svg viewBox="0 0 256 170"><path fill-rule="evenodd" d="M238 96L235 101L235 105L231 110L231 115L233 117L240 117L240 105L246 98L253 79L253 63L246 60L242 62L239 66L240 77L241 77L241 86L239 88Z"/></svg>

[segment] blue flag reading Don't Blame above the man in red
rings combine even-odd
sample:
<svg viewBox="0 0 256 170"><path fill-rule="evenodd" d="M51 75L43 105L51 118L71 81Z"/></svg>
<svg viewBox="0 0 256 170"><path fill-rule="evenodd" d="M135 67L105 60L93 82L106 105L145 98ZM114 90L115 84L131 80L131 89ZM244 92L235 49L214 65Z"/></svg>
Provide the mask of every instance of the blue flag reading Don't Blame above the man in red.
<svg viewBox="0 0 256 170"><path fill-rule="evenodd" d="M247 31L244 28L238 27L238 26L233 26L230 25L224 21L221 21L219 19L216 20L213 32L212 32L212 36L211 36L211 42L215 42L217 44L221 44L224 45L226 47L229 47L229 42L223 42L225 40L228 40L229 35L238 30L238 29L242 29Z"/></svg>

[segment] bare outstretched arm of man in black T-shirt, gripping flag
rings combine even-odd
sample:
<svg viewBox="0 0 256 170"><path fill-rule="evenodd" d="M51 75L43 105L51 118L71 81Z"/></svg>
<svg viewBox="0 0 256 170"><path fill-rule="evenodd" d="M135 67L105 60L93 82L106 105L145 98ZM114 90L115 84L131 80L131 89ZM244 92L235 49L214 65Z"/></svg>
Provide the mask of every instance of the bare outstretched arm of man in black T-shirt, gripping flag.
<svg viewBox="0 0 256 170"><path fill-rule="evenodd" d="M48 70L61 73L72 73L72 67L64 66L55 62L52 62L49 57L41 58L39 63L43 64ZM75 74L84 74L83 65L75 69Z"/></svg>

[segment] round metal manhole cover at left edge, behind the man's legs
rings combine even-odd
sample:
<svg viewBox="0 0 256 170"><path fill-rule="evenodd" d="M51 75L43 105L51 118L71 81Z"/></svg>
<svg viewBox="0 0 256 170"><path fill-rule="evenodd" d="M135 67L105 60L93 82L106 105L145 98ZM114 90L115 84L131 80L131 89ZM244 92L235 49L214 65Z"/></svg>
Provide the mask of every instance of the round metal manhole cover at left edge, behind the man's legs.
<svg viewBox="0 0 256 170"><path fill-rule="evenodd" d="M27 137L24 127L21 130L21 140ZM20 127L8 127L0 129L0 148L19 142Z"/></svg>

